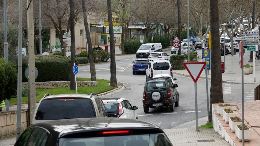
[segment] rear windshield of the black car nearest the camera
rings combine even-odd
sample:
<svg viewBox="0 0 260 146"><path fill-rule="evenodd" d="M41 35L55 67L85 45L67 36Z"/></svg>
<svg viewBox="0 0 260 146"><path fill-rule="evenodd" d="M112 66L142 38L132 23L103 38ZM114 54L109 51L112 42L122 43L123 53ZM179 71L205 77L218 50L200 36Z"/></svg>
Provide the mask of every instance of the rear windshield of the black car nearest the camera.
<svg viewBox="0 0 260 146"><path fill-rule="evenodd" d="M164 133L61 138L59 146L171 146Z"/></svg>

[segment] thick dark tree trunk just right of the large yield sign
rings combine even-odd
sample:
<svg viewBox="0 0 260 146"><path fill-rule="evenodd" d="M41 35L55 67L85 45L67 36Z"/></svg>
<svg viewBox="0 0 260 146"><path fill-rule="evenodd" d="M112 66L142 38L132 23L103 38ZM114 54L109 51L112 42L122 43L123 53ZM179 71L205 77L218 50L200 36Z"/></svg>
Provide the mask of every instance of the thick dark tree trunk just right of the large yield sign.
<svg viewBox="0 0 260 146"><path fill-rule="evenodd" d="M211 24L211 79L210 79L210 111L209 116L212 121L212 104L224 102L222 93L222 71L219 44L219 9L218 0L210 0L210 24Z"/></svg>

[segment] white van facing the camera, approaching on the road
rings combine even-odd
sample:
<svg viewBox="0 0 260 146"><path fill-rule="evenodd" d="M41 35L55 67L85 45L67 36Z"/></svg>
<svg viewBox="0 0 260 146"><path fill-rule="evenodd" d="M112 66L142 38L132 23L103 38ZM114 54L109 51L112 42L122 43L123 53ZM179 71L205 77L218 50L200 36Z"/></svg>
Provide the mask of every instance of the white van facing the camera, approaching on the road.
<svg viewBox="0 0 260 146"><path fill-rule="evenodd" d="M148 58L152 52L162 52L163 47L161 43L147 43L139 47L136 52L136 58Z"/></svg>

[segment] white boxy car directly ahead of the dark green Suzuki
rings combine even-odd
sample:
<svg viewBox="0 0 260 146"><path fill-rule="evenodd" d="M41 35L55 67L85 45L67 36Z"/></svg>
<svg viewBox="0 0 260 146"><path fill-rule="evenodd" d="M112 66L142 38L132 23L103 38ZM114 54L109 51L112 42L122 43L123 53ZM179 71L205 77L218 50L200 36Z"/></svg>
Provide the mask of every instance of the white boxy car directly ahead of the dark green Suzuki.
<svg viewBox="0 0 260 146"><path fill-rule="evenodd" d="M153 78L158 74L170 74L173 76L172 66L168 60L149 61L146 68L146 79Z"/></svg>

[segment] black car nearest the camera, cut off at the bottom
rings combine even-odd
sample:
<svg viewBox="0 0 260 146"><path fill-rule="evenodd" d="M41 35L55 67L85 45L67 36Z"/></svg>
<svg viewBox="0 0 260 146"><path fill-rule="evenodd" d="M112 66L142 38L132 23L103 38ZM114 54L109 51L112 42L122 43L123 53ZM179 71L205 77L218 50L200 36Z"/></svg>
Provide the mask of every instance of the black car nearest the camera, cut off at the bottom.
<svg viewBox="0 0 260 146"><path fill-rule="evenodd" d="M15 146L172 146L163 130L135 119L82 118L34 124Z"/></svg>

